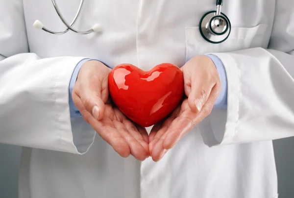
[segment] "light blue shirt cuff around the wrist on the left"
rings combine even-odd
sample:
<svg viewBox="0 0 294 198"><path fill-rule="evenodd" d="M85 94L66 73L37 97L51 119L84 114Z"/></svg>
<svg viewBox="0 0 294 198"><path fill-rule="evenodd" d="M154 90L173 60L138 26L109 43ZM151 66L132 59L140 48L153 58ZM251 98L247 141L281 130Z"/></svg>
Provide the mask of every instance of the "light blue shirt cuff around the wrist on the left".
<svg viewBox="0 0 294 198"><path fill-rule="evenodd" d="M75 81L77 79L77 75L79 73L79 70L81 69L82 65L89 61L89 60L96 60L96 59L91 59L91 58L85 58L83 60L81 60L75 67L75 69L73 70L73 74L72 74L72 78L71 78L71 81L70 81L70 86L69 86L69 105L70 105L70 115L71 117L81 117L81 114L79 112L79 110L76 108L75 104L73 103L73 97L72 97L72 94L73 94L73 87L75 85ZM99 60L97 60L99 61ZM102 61L99 61L101 63L103 63ZM109 67L107 64L103 63L106 67ZM111 67L109 67L111 68Z"/></svg>

